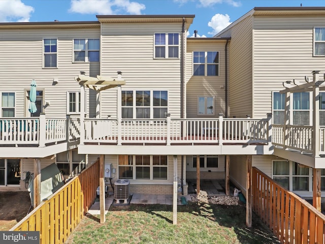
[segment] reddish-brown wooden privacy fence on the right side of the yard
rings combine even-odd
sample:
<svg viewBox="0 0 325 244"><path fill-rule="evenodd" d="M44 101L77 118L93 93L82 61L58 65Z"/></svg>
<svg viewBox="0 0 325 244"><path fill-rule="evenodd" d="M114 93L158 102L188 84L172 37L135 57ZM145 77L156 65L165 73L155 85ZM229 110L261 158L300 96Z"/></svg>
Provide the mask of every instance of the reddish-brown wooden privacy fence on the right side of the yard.
<svg viewBox="0 0 325 244"><path fill-rule="evenodd" d="M325 216L254 167L252 195L253 211L281 243L325 243Z"/></svg>

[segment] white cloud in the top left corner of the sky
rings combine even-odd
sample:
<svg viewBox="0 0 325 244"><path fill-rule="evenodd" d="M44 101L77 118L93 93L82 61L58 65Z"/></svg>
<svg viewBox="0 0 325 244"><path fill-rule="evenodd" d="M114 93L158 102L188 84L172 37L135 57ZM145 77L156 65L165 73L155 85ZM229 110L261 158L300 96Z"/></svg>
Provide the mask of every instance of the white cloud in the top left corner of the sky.
<svg viewBox="0 0 325 244"><path fill-rule="evenodd" d="M28 22L32 12L34 8L21 0L0 1L0 22Z"/></svg>

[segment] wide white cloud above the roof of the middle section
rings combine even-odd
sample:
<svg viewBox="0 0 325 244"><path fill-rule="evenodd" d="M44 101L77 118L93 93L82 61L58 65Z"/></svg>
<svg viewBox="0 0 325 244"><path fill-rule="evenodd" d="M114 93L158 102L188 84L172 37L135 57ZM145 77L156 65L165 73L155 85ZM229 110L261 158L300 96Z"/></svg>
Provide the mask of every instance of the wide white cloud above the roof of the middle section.
<svg viewBox="0 0 325 244"><path fill-rule="evenodd" d="M146 7L129 0L71 0L70 12L80 14L141 14Z"/></svg>

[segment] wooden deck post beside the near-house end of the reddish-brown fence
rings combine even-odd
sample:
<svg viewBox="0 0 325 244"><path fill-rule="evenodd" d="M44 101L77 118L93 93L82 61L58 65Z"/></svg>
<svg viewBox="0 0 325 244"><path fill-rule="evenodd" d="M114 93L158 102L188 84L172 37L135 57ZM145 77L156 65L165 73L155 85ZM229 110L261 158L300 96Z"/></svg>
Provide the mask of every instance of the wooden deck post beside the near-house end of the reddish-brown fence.
<svg viewBox="0 0 325 244"><path fill-rule="evenodd" d="M252 173L252 156L246 156L246 226L252 227L252 187L251 187L251 173Z"/></svg>

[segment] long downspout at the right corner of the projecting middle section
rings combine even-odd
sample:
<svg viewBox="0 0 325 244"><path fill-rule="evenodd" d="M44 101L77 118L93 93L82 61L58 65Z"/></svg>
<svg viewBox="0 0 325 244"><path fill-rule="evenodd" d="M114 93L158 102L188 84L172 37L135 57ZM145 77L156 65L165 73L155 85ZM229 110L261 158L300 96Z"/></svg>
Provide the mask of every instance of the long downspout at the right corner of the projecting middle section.
<svg viewBox="0 0 325 244"><path fill-rule="evenodd" d="M184 118L184 64L185 64L185 42L184 42L184 33L185 33L185 18L183 17L183 24L182 24L182 38L181 38L181 118ZM183 130L181 130L183 131ZM181 188L182 188L182 195L184 195L184 188L183 188L183 179L184 174L184 156L181 157Z"/></svg>

